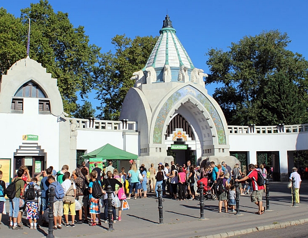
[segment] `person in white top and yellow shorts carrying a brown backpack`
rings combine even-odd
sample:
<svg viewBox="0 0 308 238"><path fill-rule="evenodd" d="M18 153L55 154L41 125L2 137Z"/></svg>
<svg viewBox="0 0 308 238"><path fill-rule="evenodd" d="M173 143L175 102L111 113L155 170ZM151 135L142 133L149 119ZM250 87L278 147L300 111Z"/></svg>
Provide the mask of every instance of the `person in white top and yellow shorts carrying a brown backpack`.
<svg viewBox="0 0 308 238"><path fill-rule="evenodd" d="M70 173L65 172L64 173L64 182L62 182L63 191L65 193L64 196L64 216L65 216L65 226L69 227L68 223L68 211L70 211L70 214L72 216L72 227L75 227L75 197L76 197L76 186L73 180L71 180Z"/></svg>

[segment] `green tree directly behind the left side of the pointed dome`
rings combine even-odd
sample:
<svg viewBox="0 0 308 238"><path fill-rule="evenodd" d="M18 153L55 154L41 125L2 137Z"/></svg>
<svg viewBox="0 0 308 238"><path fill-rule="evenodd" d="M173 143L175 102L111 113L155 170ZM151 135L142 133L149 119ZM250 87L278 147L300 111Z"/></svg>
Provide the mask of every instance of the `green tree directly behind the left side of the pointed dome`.
<svg viewBox="0 0 308 238"><path fill-rule="evenodd" d="M111 43L115 53L104 53L97 70L95 70L98 107L102 113L98 116L105 120L117 120L123 100L134 81L132 73L141 70L154 48L157 37L136 36L131 40L124 35L116 35Z"/></svg>

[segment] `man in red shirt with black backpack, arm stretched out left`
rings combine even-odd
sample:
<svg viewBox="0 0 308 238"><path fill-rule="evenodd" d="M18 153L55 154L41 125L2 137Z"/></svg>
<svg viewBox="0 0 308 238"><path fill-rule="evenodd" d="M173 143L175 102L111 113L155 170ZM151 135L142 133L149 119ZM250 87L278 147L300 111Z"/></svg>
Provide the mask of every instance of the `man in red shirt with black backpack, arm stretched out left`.
<svg viewBox="0 0 308 238"><path fill-rule="evenodd" d="M256 214L262 215L265 211L265 207L262 207L262 193L264 191L264 186L259 186L257 184L257 180L258 180L258 171L257 169L255 169L255 165L254 164L249 164L248 166L248 175L246 175L245 177L241 178L241 179L235 179L235 181L245 181L248 178L251 179L252 181L252 185L253 185L253 192L251 195L251 201L253 203L255 203L258 207L259 210L258 212L256 212Z"/></svg>

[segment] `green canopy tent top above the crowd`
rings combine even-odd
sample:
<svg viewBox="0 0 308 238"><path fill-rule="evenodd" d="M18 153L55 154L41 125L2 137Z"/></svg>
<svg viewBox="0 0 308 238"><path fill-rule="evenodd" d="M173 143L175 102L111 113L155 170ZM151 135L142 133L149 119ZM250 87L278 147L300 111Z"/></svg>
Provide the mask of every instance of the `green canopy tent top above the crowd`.
<svg viewBox="0 0 308 238"><path fill-rule="evenodd" d="M111 144L105 144L103 147L81 156L84 159L103 158L107 160L131 160L137 159L138 155L123 151Z"/></svg>

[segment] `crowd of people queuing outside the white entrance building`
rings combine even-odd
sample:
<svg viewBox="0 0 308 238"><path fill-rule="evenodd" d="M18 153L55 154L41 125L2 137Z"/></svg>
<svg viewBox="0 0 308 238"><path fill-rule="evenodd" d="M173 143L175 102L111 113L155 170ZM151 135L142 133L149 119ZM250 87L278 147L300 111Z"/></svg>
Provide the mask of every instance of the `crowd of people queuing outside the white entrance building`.
<svg viewBox="0 0 308 238"><path fill-rule="evenodd" d="M127 173L125 168L122 168L121 172L113 168L111 161L103 169L95 163L92 171L89 171L86 163L83 162L81 167L76 168L72 174L69 172L69 167L64 165L59 172L49 167L31 178L27 167L22 166L10 184L15 186L15 193L9 197L9 228L23 229L22 214L24 211L26 211L27 226L30 229L37 229L39 217L42 217L43 224L47 223L46 214L48 215L51 188L54 190L53 229L62 229L62 225L74 227L75 224L83 223L90 226L101 225L102 222L108 223L106 192L108 186L111 187L112 198L117 195L121 203L118 207L112 207L112 222L115 223L122 219L122 205L126 199L147 198L148 190L156 194L158 198L158 187L161 185L163 197L169 196L170 199L180 201L195 200L199 192L197 181L203 178L207 178L208 181L205 186L213 189L213 192L217 194L219 212L222 212L223 205L225 212L228 212L228 209L235 212L235 181L238 181L241 195L251 192L251 201L258 206L256 213L261 215L265 212L262 206L265 184L258 185L259 172L266 178L267 171L263 164L259 166L249 164L246 175L241 171L239 164L235 164L232 169L226 162L216 166L212 161L208 166L200 168L200 166L192 165L190 160L183 166L170 161L170 166L168 163L159 163L155 167L152 163L147 170L144 164L141 164L138 169L136 161L131 160ZM0 186L4 191L9 190L10 186L6 188L5 182L1 180L2 175L0 171ZM296 168L293 168L292 176L298 181L296 203L299 203L298 189L301 180L300 177L298 178ZM5 208L5 198L2 195L0 194L0 222ZM102 207L105 207L103 219L101 219ZM69 214L71 221L69 221Z"/></svg>

